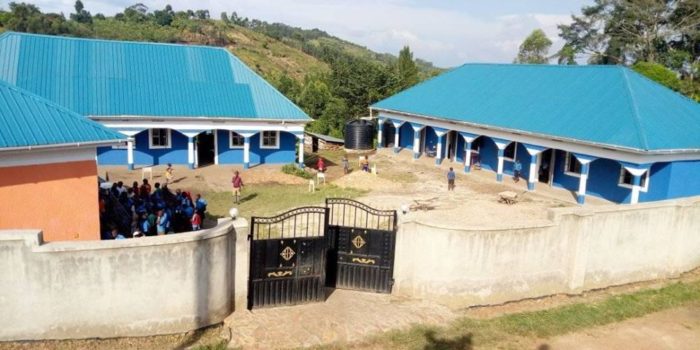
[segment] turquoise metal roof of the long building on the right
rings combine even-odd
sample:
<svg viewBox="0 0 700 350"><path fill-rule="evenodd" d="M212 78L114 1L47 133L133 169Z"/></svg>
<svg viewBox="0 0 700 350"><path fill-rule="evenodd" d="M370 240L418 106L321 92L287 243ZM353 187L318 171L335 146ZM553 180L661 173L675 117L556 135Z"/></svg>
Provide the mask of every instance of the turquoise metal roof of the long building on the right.
<svg viewBox="0 0 700 350"><path fill-rule="evenodd" d="M643 151L700 149L700 104L620 66L465 64L372 107Z"/></svg>

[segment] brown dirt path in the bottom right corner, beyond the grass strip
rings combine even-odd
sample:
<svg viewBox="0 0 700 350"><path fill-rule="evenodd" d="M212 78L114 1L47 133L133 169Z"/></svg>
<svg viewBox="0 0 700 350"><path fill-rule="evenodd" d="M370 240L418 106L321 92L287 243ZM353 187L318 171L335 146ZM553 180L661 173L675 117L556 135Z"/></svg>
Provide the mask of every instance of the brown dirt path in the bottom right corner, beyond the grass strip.
<svg viewBox="0 0 700 350"><path fill-rule="evenodd" d="M700 304L546 339L533 348L695 350L700 348Z"/></svg>

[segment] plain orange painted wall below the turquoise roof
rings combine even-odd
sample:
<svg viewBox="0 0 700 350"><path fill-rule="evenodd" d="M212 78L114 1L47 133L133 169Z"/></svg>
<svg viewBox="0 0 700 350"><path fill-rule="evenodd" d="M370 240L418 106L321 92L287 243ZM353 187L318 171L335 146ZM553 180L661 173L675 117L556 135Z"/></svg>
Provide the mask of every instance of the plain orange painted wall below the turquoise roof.
<svg viewBox="0 0 700 350"><path fill-rule="evenodd" d="M0 168L0 229L41 229L45 241L98 240L94 160Z"/></svg>

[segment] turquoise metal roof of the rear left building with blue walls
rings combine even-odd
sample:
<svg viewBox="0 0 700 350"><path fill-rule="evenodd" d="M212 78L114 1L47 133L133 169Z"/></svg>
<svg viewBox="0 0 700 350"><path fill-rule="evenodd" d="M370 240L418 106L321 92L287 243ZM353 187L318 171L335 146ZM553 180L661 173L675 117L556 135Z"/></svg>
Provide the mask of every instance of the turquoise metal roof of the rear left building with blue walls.
<svg viewBox="0 0 700 350"><path fill-rule="evenodd" d="M88 116L309 119L223 48L8 32L0 80Z"/></svg>

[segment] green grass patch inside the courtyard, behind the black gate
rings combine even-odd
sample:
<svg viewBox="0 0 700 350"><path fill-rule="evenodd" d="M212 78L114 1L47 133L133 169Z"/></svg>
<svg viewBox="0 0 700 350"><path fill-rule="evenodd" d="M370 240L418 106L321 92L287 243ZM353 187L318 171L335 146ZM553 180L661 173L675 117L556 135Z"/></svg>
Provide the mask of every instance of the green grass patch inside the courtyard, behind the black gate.
<svg viewBox="0 0 700 350"><path fill-rule="evenodd" d="M340 188L332 184L316 187L316 192L308 192L307 185L260 184L243 188L241 202L233 203L231 192L207 194L207 211L218 217L228 216L228 211L236 207L242 217L272 216L283 211L307 205L324 205L327 197L355 198L365 192L356 189Z"/></svg>

